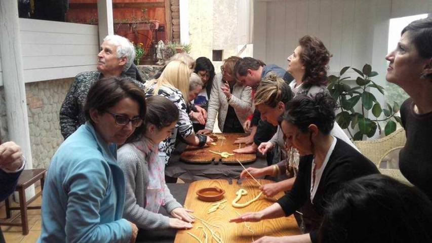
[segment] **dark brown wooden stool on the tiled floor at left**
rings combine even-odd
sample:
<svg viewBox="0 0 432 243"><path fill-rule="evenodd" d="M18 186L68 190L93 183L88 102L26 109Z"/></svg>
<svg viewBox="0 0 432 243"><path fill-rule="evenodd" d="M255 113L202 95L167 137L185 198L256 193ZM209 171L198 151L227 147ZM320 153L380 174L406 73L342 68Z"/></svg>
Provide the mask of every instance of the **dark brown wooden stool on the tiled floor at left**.
<svg viewBox="0 0 432 243"><path fill-rule="evenodd" d="M20 177L18 178L17 188L15 191L18 191L20 198L20 206L19 207L10 207L9 206L9 198L5 200L6 206L6 218L11 218L12 210L20 210L21 211L21 223L9 223L9 222L0 222L0 225L6 226L21 226L22 234L28 234L28 218L27 218L27 209L41 209L41 206L31 206L28 207L29 204L32 203L38 196L42 195L42 191L44 190L44 182L45 182L45 172L47 169L31 169L24 170ZM26 201L25 198L25 189L33 185L36 181L41 180L41 191L36 193L32 198ZM15 215L10 221L14 221L20 214Z"/></svg>

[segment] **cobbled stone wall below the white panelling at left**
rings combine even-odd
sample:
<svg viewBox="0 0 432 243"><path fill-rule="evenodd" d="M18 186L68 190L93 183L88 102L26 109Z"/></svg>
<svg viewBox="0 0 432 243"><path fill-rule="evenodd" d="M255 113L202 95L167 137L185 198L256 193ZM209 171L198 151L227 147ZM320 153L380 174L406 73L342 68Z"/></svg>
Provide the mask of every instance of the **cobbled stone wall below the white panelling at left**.
<svg viewBox="0 0 432 243"><path fill-rule="evenodd" d="M25 85L33 168L48 168L51 157L63 142L59 111L73 78L47 80ZM4 87L0 89L0 131L9 140Z"/></svg>

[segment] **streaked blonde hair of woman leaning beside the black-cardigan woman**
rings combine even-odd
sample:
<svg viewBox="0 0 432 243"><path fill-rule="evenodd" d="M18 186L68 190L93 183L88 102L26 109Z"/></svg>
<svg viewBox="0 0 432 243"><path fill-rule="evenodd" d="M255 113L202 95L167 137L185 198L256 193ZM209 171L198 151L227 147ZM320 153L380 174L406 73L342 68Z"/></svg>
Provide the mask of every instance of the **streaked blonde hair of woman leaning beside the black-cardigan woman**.
<svg viewBox="0 0 432 243"><path fill-rule="evenodd" d="M263 104L275 108L279 102L286 105L293 96L291 88L285 80L274 73L270 73L261 79L255 93L255 106Z"/></svg>

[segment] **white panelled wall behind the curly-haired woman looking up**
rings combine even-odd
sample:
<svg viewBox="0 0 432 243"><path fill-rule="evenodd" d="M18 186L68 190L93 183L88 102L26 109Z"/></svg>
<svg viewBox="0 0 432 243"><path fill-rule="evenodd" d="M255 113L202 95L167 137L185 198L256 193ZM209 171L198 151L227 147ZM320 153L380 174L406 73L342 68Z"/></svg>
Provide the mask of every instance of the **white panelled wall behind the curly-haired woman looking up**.
<svg viewBox="0 0 432 243"><path fill-rule="evenodd" d="M254 57L286 67L287 57L306 34L319 37L333 55L330 71L371 62L372 0L258 1ZM265 11L265 13L263 13ZM263 24L265 23L265 24ZM265 28L265 32L262 30ZM265 38L262 35L265 33Z"/></svg>

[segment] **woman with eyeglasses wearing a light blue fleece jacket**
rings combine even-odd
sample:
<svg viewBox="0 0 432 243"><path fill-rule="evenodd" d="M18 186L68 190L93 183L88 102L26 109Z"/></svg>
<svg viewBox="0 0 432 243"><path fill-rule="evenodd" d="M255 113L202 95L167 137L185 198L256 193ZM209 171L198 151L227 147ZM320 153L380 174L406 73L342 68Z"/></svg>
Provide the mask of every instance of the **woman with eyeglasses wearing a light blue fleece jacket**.
<svg viewBox="0 0 432 243"><path fill-rule="evenodd" d="M51 159L42 197L38 242L135 242L123 219L125 176L117 145L142 132L144 93L132 79L107 77L90 88L87 121Z"/></svg>

